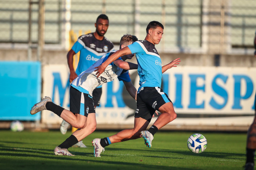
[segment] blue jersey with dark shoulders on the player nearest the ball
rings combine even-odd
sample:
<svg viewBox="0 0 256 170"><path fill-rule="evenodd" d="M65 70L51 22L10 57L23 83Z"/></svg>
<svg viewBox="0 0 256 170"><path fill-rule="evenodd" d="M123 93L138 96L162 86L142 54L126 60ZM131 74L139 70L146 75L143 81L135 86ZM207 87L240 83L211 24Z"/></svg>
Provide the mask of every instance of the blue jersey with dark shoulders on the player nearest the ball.
<svg viewBox="0 0 256 170"><path fill-rule="evenodd" d="M161 87L162 61L154 44L149 41L136 41L128 45L132 54L136 53L140 88Z"/></svg>

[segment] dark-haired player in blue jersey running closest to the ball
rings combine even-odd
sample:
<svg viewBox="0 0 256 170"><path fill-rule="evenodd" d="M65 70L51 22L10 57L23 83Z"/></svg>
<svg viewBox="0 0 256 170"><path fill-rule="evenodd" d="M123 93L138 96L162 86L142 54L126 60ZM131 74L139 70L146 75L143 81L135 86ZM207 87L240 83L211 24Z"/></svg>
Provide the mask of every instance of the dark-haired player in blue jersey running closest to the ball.
<svg viewBox="0 0 256 170"><path fill-rule="evenodd" d="M116 51L100 66L95 67L96 74L100 76L106 66L119 57L128 54L136 54L138 63L138 74L140 77L140 87L137 92L137 109L135 111L134 128L125 129L119 133L103 139L94 139L94 156L100 157L104 147L111 143L128 141L143 137L147 147L151 147L154 134L166 125L176 119L173 104L167 94L161 87L162 73L179 64L180 58L171 63L162 66L161 58L155 48L160 42L164 33L164 26L158 21L151 21L146 28L146 38L142 41L128 45L127 47ZM160 115L154 124L146 131L154 112L160 111Z"/></svg>

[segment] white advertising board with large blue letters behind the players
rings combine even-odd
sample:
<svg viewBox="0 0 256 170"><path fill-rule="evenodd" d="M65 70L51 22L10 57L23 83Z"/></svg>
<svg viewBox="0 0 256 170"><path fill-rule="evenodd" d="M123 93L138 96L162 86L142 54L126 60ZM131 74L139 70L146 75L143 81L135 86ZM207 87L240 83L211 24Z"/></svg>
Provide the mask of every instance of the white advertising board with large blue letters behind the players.
<svg viewBox="0 0 256 170"><path fill-rule="evenodd" d="M69 109L69 69L67 65L46 65L43 95ZM256 68L178 66L164 72L162 89L178 115L172 125L250 125L254 115ZM138 88L138 73L130 71ZM136 101L118 79L102 86L97 124L133 124ZM155 119L155 118L154 118ZM153 120L154 120L153 119ZM152 120L152 121L153 121ZM42 122L61 123L50 111L42 112Z"/></svg>

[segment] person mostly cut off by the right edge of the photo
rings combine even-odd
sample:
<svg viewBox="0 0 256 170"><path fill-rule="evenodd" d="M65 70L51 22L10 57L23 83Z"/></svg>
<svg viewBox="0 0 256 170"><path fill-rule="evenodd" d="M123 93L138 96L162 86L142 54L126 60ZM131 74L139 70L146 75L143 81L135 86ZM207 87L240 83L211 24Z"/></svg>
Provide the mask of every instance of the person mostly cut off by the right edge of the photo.
<svg viewBox="0 0 256 170"><path fill-rule="evenodd" d="M254 57L256 57L256 32L254 36ZM254 155L256 149L256 94L254 99L254 120L250 125L247 133L247 143L246 143L246 164L244 170L254 170Z"/></svg>

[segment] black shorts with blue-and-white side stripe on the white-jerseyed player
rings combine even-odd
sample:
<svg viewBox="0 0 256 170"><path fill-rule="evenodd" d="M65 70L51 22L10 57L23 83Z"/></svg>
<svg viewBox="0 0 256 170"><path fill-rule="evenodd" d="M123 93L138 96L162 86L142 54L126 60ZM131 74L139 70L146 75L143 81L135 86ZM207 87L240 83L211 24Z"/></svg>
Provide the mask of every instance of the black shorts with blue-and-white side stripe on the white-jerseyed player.
<svg viewBox="0 0 256 170"><path fill-rule="evenodd" d="M70 86L70 111L88 117L89 113L95 113L93 99Z"/></svg>

